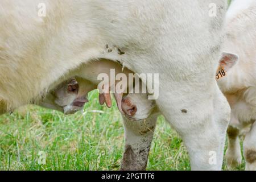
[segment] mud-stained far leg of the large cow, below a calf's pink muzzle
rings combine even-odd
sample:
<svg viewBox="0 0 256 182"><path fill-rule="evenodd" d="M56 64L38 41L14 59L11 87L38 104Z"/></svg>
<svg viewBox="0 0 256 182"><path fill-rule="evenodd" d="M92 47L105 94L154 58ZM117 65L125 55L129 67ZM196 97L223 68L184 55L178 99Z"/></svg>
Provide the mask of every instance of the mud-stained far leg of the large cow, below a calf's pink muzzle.
<svg viewBox="0 0 256 182"><path fill-rule="evenodd" d="M125 152L121 164L122 171L146 170L157 117L158 114L152 114L147 119L141 121L134 121L133 119L123 117Z"/></svg>

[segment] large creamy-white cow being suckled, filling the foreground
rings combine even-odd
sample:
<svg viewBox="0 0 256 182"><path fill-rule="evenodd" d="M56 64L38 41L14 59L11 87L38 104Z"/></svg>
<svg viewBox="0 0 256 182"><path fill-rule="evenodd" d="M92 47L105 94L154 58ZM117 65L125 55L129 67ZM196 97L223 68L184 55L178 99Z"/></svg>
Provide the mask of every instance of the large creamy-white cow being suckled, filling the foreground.
<svg viewBox="0 0 256 182"><path fill-rule="evenodd" d="M156 105L183 138L192 169L220 170L230 108L214 75L225 11L226 0L2 0L1 113L41 98L82 63L119 60L135 73L159 73ZM122 169L142 169L137 154L148 150L126 144L125 156L138 158L125 158Z"/></svg>

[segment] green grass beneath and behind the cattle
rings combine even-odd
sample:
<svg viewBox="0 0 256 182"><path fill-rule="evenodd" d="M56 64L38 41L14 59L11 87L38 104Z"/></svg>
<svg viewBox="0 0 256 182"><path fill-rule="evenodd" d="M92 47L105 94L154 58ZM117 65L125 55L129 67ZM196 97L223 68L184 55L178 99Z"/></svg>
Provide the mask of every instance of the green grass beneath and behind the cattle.
<svg viewBox="0 0 256 182"><path fill-rule="evenodd" d="M38 106L2 115L0 170L118 170L124 146L121 115L115 105L100 106L95 92L89 100L83 111L68 116ZM40 151L46 152L46 164L38 163ZM181 138L163 117L147 169L191 169Z"/></svg>

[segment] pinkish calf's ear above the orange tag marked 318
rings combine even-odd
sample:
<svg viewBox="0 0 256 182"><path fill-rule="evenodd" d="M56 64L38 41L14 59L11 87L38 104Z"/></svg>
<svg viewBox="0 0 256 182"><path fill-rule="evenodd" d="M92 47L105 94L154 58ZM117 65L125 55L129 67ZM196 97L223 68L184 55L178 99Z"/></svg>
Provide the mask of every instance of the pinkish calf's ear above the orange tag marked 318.
<svg viewBox="0 0 256 182"><path fill-rule="evenodd" d="M219 67L224 68L226 72L229 71L235 64L237 64L238 56L234 53L223 52Z"/></svg>

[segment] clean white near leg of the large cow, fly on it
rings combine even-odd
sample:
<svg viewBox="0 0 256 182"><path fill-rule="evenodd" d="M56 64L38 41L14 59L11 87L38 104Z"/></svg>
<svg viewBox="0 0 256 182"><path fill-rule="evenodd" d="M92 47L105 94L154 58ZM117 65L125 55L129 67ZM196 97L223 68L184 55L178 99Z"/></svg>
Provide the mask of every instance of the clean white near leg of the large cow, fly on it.
<svg viewBox="0 0 256 182"><path fill-rule="evenodd" d="M230 120L228 102L217 86L215 91L204 94L186 92L185 86L171 93L163 88L166 96L159 94L159 109L183 139L192 170L221 170Z"/></svg>

